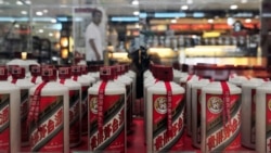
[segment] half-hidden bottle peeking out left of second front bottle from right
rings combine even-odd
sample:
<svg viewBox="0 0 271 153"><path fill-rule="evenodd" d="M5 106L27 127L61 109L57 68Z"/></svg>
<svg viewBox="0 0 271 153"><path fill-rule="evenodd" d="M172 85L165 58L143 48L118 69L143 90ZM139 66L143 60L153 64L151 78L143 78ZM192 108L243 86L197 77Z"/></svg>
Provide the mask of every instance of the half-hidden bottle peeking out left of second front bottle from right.
<svg viewBox="0 0 271 153"><path fill-rule="evenodd" d="M191 107L191 133L192 133L192 144L195 148L201 148L201 94L202 88L207 86L209 81L198 81L192 84L192 107Z"/></svg>

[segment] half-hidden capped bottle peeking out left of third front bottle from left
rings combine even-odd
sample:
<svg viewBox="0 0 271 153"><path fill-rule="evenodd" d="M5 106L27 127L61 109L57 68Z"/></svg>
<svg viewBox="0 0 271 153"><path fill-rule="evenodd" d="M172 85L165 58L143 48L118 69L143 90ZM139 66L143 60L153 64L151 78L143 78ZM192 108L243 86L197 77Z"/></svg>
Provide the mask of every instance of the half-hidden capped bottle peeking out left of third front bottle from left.
<svg viewBox="0 0 271 153"><path fill-rule="evenodd" d="M72 79L81 85L81 135L88 133L88 89L94 82L92 78L81 76L81 65L73 65Z"/></svg>

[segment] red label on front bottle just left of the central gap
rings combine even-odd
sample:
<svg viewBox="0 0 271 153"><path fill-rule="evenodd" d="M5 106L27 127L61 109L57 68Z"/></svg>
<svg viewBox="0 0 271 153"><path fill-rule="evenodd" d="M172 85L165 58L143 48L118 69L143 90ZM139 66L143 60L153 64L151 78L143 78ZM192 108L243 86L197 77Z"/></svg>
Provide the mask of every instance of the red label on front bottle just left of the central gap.
<svg viewBox="0 0 271 153"><path fill-rule="evenodd" d="M89 149L91 151L125 152L125 94L103 95L103 126L99 131L99 98L89 94Z"/></svg>

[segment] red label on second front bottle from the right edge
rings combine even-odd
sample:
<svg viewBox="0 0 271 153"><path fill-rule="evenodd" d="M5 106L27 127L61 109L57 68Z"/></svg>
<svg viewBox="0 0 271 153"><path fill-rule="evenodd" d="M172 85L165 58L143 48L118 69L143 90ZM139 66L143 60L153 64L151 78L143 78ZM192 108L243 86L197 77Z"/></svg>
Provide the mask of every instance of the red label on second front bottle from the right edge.
<svg viewBox="0 0 271 153"><path fill-rule="evenodd" d="M229 95L231 118L223 120L223 94L206 94L206 152L234 151L241 148L240 94Z"/></svg>

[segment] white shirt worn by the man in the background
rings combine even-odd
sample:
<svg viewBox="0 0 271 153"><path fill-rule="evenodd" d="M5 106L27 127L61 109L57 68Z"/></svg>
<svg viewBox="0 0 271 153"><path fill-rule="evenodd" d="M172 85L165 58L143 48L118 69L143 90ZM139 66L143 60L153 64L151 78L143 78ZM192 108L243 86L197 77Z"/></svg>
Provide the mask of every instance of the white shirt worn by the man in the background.
<svg viewBox="0 0 271 153"><path fill-rule="evenodd" d="M96 50L101 60L103 60L102 36L99 27L94 23L89 24L86 30L86 61L96 61L95 53L89 43L90 39L94 40Z"/></svg>

